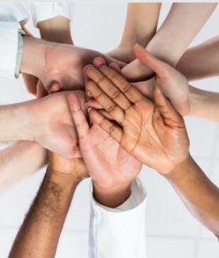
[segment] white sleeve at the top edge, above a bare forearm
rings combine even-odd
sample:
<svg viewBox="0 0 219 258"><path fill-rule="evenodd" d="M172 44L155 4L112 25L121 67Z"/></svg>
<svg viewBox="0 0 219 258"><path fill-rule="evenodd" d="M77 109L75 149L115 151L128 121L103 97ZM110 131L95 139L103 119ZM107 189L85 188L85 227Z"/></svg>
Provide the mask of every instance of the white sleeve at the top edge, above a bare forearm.
<svg viewBox="0 0 219 258"><path fill-rule="evenodd" d="M45 21L56 16L63 16L71 21L73 7L74 4L72 3L32 3L30 4L30 9L33 16L33 25L38 28L38 22Z"/></svg>

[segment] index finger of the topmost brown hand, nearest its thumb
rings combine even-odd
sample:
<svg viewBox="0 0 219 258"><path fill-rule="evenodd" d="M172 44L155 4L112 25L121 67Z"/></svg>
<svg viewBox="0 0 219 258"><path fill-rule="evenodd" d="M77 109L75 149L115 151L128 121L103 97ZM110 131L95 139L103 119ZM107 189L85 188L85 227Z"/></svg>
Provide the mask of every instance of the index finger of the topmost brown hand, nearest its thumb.
<svg viewBox="0 0 219 258"><path fill-rule="evenodd" d="M122 75L118 74L118 72L115 70L112 70L104 65L99 67L99 70L108 78L108 80L113 82L113 84L125 94L130 102L136 103L144 99L144 95L142 95L139 90L135 89L135 87L132 87L128 80L126 80Z"/></svg>

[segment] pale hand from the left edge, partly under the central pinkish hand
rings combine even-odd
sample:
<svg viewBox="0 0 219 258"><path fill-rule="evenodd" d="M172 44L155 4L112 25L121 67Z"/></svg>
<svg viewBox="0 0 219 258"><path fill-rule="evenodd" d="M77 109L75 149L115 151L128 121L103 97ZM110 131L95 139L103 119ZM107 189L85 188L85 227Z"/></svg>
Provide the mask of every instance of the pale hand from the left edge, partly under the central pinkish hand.
<svg viewBox="0 0 219 258"><path fill-rule="evenodd" d="M75 95L84 112L85 92L59 92L42 99L26 102L28 116L31 117L29 135L32 140L64 158L80 157L77 131L69 110L67 97Z"/></svg>

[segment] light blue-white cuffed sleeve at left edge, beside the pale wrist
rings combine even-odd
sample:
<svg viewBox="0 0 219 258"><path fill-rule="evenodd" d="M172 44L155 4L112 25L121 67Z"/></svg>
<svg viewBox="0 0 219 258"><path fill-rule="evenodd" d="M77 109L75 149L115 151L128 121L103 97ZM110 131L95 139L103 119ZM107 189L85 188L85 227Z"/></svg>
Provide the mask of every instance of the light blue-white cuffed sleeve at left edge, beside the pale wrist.
<svg viewBox="0 0 219 258"><path fill-rule="evenodd" d="M0 75L14 79L19 76L23 50L23 31L18 22L0 21Z"/></svg>

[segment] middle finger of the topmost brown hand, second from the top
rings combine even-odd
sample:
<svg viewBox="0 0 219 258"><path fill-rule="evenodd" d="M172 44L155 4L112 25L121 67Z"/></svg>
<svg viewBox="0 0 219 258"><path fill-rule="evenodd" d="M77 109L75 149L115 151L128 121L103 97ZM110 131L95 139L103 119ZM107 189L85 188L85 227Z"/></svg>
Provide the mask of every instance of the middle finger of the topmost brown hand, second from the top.
<svg viewBox="0 0 219 258"><path fill-rule="evenodd" d="M96 85L98 85L101 88L101 90L103 90L103 92L105 92L106 95L108 95L111 98L111 100L116 102L116 104L118 104L118 106L121 107L123 110L127 110L131 106L131 103L128 100L128 98L125 97L125 95L122 92L120 92L118 87L113 85L113 83L110 80L108 80L108 78L104 76L102 72L90 66L86 69L86 75L88 75L91 78L91 80L93 80L96 83ZM94 95L92 96L94 97Z"/></svg>

